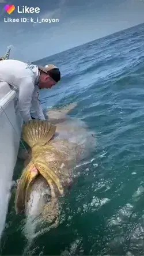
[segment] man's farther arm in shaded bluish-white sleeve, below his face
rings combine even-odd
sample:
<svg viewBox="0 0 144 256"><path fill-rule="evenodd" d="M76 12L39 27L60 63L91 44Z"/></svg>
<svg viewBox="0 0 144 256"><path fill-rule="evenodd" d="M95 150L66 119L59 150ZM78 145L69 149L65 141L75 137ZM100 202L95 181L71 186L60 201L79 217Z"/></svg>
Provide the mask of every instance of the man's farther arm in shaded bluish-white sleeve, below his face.
<svg viewBox="0 0 144 256"><path fill-rule="evenodd" d="M39 87L35 85L35 90L32 95L32 107L31 107L32 116L35 119L46 120L43 114L42 107L39 101Z"/></svg>

